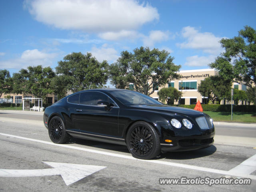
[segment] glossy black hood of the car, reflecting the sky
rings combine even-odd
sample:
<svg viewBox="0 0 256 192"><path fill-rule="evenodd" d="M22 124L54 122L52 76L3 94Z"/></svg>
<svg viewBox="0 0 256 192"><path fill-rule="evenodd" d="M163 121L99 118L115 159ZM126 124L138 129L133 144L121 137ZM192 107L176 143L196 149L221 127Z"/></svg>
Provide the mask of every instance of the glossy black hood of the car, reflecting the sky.
<svg viewBox="0 0 256 192"><path fill-rule="evenodd" d="M175 106L168 106L168 105L133 105L132 108L143 109L143 110L152 110L164 113L172 113L172 114L180 114L184 116L208 116L207 114L196 111L193 109L182 108L182 107L175 107Z"/></svg>

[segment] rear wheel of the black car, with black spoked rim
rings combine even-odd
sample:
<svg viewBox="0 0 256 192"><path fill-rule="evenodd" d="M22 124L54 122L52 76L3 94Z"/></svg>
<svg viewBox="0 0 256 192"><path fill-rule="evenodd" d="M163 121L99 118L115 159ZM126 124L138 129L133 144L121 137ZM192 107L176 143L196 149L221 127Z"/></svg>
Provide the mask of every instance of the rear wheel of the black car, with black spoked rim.
<svg viewBox="0 0 256 192"><path fill-rule="evenodd" d="M58 117L54 116L48 126L48 133L52 142L57 144L63 144L68 142L69 134L66 132L66 128L64 125L63 120Z"/></svg>

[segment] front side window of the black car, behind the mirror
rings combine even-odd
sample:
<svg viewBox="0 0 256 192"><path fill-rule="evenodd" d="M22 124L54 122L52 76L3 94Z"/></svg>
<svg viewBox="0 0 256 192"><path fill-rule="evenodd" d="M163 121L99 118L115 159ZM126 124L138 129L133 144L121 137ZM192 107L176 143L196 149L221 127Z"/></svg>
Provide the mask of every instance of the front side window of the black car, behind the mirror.
<svg viewBox="0 0 256 192"><path fill-rule="evenodd" d="M99 101L106 101L116 106L114 101L103 93L88 91L80 94L79 104L96 106Z"/></svg>

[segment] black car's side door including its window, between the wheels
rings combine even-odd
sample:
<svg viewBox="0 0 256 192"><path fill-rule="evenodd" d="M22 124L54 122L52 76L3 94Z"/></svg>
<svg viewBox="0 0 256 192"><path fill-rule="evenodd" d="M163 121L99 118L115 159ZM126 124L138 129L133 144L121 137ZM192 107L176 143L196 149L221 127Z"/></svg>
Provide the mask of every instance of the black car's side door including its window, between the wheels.
<svg viewBox="0 0 256 192"><path fill-rule="evenodd" d="M114 106L98 106L98 101L112 103ZM98 91L80 93L76 111L76 130L102 136L118 136L119 108L106 94Z"/></svg>

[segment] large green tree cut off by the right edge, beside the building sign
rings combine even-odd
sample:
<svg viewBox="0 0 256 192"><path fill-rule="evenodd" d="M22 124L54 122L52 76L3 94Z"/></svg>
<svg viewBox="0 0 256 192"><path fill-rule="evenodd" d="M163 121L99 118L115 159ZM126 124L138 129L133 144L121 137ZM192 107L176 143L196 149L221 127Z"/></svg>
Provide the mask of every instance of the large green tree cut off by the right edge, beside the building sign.
<svg viewBox="0 0 256 192"><path fill-rule="evenodd" d="M245 26L232 39L220 40L225 48L209 66L219 71L220 76L252 88L256 84L256 31ZM252 84L254 83L254 85ZM256 98L254 98L256 104Z"/></svg>

